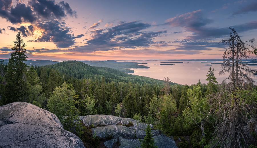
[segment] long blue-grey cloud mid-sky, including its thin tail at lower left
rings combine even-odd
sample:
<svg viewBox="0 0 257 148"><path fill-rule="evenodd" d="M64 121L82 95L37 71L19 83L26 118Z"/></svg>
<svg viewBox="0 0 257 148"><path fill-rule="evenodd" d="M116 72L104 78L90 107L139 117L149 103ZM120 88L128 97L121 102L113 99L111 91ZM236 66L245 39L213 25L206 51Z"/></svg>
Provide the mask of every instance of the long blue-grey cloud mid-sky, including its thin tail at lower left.
<svg viewBox="0 0 257 148"><path fill-rule="evenodd" d="M91 39L87 40L84 46L71 49L73 52L93 52L121 50L124 48L147 47L158 44L154 39L164 35L167 31L143 31L152 27L148 23L132 21L121 23L108 29L97 29L91 31Z"/></svg>

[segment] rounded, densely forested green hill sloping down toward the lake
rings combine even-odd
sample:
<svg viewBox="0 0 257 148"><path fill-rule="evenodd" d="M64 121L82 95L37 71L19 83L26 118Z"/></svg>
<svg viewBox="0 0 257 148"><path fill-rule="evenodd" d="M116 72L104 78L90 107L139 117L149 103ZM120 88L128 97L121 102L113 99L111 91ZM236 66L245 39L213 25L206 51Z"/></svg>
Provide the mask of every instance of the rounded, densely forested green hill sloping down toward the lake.
<svg viewBox="0 0 257 148"><path fill-rule="evenodd" d="M80 61L64 61L52 65L44 66L49 69L55 69L65 75L65 79L69 78L97 78L105 77L107 82L132 82L136 84L163 84L162 80L153 78L126 74L119 70L107 67L90 66Z"/></svg>

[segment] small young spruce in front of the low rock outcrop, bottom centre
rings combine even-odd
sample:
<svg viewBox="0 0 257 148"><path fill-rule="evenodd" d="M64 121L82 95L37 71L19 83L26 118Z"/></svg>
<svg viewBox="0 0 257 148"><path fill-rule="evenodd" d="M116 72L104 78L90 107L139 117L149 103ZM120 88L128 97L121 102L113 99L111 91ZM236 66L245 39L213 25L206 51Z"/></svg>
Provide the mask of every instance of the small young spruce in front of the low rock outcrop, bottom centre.
<svg viewBox="0 0 257 148"><path fill-rule="evenodd" d="M151 128L149 125L146 127L146 134L143 140L140 140L141 148L156 148L154 139L152 138Z"/></svg>

